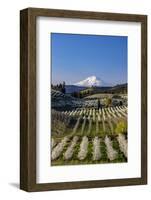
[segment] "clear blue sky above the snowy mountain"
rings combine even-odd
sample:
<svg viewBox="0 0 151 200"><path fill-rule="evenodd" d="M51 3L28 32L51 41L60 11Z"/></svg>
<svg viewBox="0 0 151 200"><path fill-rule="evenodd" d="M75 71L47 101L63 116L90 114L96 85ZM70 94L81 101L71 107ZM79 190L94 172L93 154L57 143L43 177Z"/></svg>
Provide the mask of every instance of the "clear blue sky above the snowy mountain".
<svg viewBox="0 0 151 200"><path fill-rule="evenodd" d="M52 83L74 84L95 75L109 84L127 82L127 37L51 34Z"/></svg>

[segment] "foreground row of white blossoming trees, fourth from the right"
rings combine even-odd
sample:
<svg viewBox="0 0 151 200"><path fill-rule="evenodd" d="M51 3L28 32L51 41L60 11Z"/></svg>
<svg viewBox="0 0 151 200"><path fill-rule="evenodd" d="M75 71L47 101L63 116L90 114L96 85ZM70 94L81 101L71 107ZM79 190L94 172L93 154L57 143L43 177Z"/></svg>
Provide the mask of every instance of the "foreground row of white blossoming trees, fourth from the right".
<svg viewBox="0 0 151 200"><path fill-rule="evenodd" d="M84 136L82 138L82 142L80 144L80 151L78 153L79 160L84 160L86 158L88 153L88 144L89 144L88 138Z"/></svg>

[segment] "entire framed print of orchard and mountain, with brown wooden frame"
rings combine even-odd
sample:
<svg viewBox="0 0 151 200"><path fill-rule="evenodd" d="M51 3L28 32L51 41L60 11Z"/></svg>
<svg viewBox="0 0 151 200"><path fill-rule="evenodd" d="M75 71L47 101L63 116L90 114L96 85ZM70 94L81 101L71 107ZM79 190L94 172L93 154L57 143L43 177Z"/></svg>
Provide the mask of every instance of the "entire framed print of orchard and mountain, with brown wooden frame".
<svg viewBox="0 0 151 200"><path fill-rule="evenodd" d="M20 12L20 188L147 184L147 16Z"/></svg>

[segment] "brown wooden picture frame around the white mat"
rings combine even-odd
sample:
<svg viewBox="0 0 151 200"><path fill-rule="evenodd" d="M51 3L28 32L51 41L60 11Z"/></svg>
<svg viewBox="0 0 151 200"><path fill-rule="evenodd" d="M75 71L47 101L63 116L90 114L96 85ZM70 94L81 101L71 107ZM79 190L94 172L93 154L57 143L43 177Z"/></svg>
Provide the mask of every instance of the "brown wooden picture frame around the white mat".
<svg viewBox="0 0 151 200"><path fill-rule="evenodd" d="M36 183L36 18L109 20L141 23L141 177ZM27 8L20 12L20 188L25 191L147 184L147 16Z"/></svg>

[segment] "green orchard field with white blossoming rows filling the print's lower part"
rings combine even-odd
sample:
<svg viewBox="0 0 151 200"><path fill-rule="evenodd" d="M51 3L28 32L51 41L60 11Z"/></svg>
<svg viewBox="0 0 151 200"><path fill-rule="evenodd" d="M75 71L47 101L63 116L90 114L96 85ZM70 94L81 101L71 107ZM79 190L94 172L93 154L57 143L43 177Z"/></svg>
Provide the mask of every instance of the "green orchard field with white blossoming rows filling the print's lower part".
<svg viewBox="0 0 151 200"><path fill-rule="evenodd" d="M126 107L81 109L55 115L61 120L57 119L57 127L52 124L52 166L127 162ZM64 121L62 133L56 134L55 128ZM82 159L79 152L84 155Z"/></svg>

